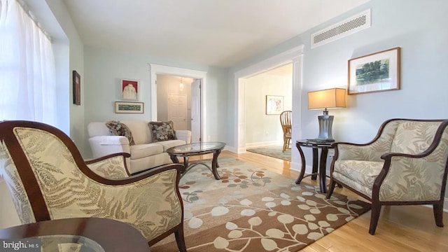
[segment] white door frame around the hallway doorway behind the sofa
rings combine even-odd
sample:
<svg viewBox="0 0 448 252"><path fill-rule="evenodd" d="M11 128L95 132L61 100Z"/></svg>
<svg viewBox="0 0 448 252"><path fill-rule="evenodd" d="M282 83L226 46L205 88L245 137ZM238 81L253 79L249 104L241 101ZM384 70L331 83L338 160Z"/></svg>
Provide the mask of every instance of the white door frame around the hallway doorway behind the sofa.
<svg viewBox="0 0 448 252"><path fill-rule="evenodd" d="M159 64L149 64L151 67L151 120L157 121L157 75L158 74L168 74L172 76L183 76L189 78L201 79L201 103L207 104L207 71L198 71L193 69L183 69L174 66L163 66ZM205 106L201 106L200 117L201 117L201 136L207 136L207 113Z"/></svg>

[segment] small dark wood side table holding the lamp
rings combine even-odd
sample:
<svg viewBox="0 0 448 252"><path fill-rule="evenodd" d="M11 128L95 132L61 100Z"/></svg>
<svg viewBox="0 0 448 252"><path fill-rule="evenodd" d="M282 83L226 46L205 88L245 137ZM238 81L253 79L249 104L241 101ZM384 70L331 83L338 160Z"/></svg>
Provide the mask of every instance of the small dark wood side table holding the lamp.
<svg viewBox="0 0 448 252"><path fill-rule="evenodd" d="M319 186L321 193L327 193L327 155L328 149L333 148L331 145L335 141L317 141L316 139L302 139L295 142L295 146L299 150L300 158L302 159L302 169L300 170L299 177L295 181L296 184L300 184L302 179L311 176L312 180L316 180L319 176ZM305 156L303 155L302 147L308 147L313 149L313 169L311 174L304 176L305 173ZM318 160L318 149L321 149L321 158Z"/></svg>

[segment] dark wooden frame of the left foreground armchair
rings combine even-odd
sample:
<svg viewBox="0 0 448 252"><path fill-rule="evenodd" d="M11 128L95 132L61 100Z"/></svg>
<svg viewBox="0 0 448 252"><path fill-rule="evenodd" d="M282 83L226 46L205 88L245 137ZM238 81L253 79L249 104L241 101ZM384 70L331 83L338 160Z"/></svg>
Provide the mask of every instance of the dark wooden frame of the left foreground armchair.
<svg viewBox="0 0 448 252"><path fill-rule="evenodd" d="M151 176L154 176L155 174L160 174L162 172L166 172L172 169L176 170L176 195L179 198L179 202L181 204L181 222L176 225L174 228L171 228L170 230L166 230L161 235L158 235L158 237L154 237L150 241L148 241L148 245L151 246L161 239L167 237L168 235L171 235L174 232L174 235L176 237L176 243L179 246L179 251L186 251L186 244L185 239L183 235L183 202L181 195L179 193L179 179L181 172L183 169L183 165L179 164L169 164L169 165L163 165L161 167L157 167L154 169L150 169L147 172L142 172L137 175L129 176L127 178L123 179L106 179L102 176L99 176L95 172L93 172L89 167L87 167L87 164L92 164L94 162L105 160L107 158L115 157L115 156L123 156L123 165L125 166L125 158L129 157L130 155L128 153L116 153L111 154L106 157L98 158L96 160L89 160L85 162L80 155L78 148L76 148L76 145L73 143L73 141L61 130L58 130L55 127L52 127L50 125L45 125L43 123L36 123L31 121L20 121L20 120L11 120L11 121L3 121L0 122L0 141L3 142L3 146L6 146L8 149L8 153L10 153L10 157L13 160L13 163L15 167L17 168L18 174L20 176L20 179L22 181L22 184L25 188L26 194L28 195L29 204L31 205L32 212L34 214L34 218L36 221L48 221L51 220L52 217L50 216L50 212L48 210L47 204L45 203L45 199L43 197L42 191L40 189L39 183L36 179L36 176L33 172L33 168L31 167L29 160L27 158L27 155L25 155L24 151L22 150L22 147L20 145L20 142L18 141L17 137L15 137L14 129L15 127L27 127L27 128L33 128L42 130L45 132L49 132L50 134L53 134L55 137L57 137L66 148L68 148L69 153L71 153L74 162L76 163L76 166L79 169L79 172L87 176L89 179L92 179L93 181L96 181L99 184L105 185L105 186L126 186L130 185L132 183L135 183L137 181L142 181L145 179L150 178ZM127 169L126 169L127 171ZM129 171L127 171L127 174L129 175ZM151 199L148 199L151 200ZM89 216L85 216L89 217ZM120 221L118 219L118 221Z"/></svg>

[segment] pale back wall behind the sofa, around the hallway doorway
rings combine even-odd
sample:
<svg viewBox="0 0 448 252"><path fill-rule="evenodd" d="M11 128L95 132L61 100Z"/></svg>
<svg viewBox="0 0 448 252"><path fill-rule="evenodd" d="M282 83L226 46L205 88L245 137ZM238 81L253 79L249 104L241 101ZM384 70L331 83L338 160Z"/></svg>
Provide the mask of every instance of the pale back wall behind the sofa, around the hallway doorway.
<svg viewBox="0 0 448 252"><path fill-rule="evenodd" d="M207 71L207 93L204 94L207 140L225 142L225 118L221 115L227 114L226 69L90 46L85 46L84 52L84 83L88 88L84 93L86 106L84 143L90 157L92 154L87 137L88 123L107 120L151 120L150 64ZM144 102L143 114L114 113L114 102L121 100L121 78L139 80L139 99L140 102Z"/></svg>

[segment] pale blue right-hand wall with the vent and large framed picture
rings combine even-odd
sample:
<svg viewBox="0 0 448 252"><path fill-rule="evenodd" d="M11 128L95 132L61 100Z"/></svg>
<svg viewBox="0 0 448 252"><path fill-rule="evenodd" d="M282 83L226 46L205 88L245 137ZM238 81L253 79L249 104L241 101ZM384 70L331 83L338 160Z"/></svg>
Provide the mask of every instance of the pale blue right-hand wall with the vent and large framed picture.
<svg viewBox="0 0 448 252"><path fill-rule="evenodd" d="M325 27L360 13L367 8L372 11L372 27L356 34L340 38L318 48L310 48L310 35ZM255 55L229 71L233 73L278 54L304 45L302 74L302 137L318 135L317 116L321 111L307 109L307 92L329 87L344 87L347 83L347 61L349 59L400 47L401 89L370 94L356 94L347 97L347 108L330 111L335 116L333 137L338 141L363 143L372 139L379 125L389 118L448 118L448 32L441 20L446 20L448 1L405 1L372 0L344 15L329 20L271 48ZM229 86L229 94L235 92ZM235 98L229 97L229 107ZM234 125L234 115L228 116L228 125ZM233 143L230 132L228 142ZM293 139L294 141L294 139ZM305 150L308 164L311 150ZM297 158L297 151L293 151ZM293 157L293 160L295 159ZM297 159L298 160L298 159ZM298 164L293 164L299 167ZM447 192L448 193L448 192Z"/></svg>

